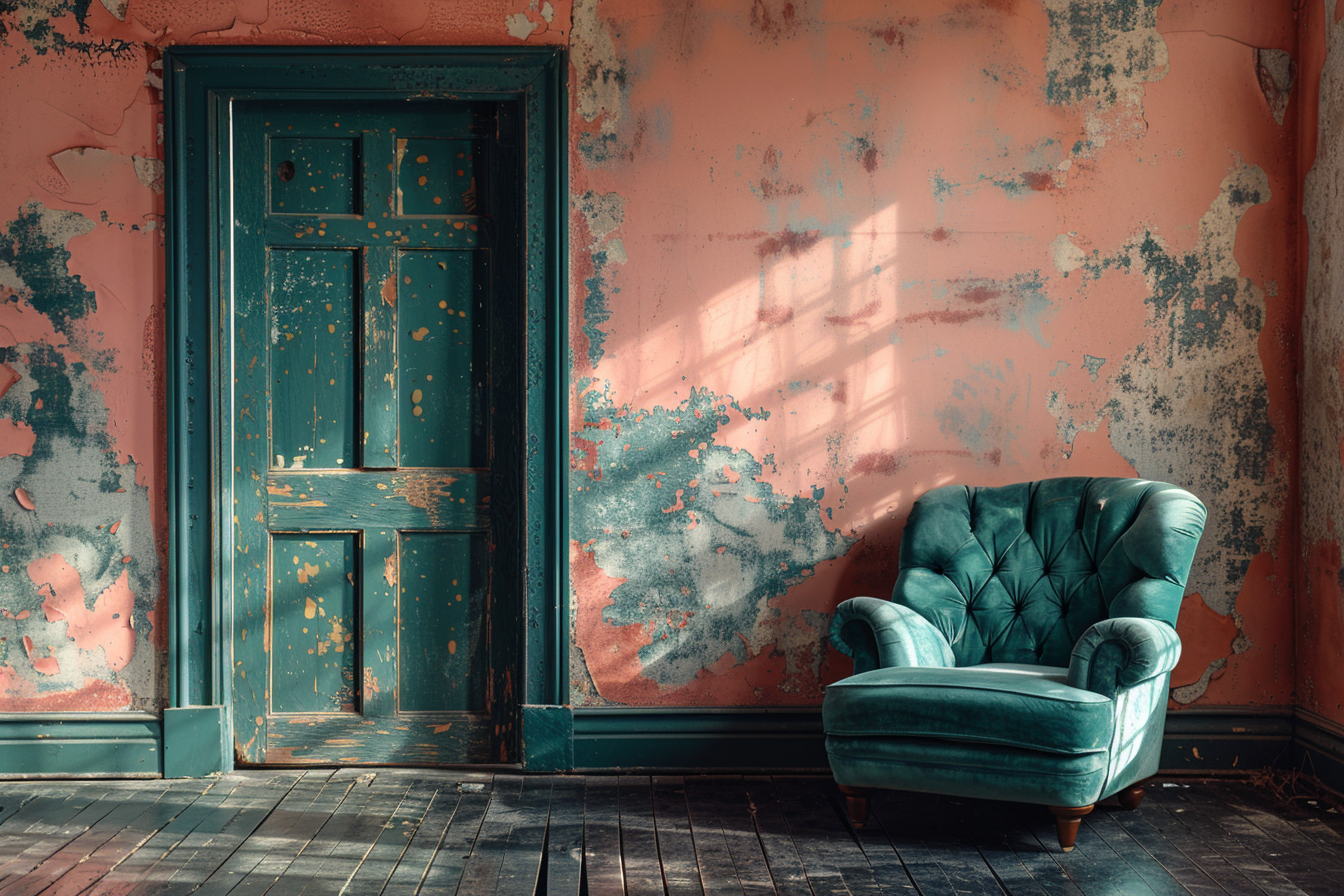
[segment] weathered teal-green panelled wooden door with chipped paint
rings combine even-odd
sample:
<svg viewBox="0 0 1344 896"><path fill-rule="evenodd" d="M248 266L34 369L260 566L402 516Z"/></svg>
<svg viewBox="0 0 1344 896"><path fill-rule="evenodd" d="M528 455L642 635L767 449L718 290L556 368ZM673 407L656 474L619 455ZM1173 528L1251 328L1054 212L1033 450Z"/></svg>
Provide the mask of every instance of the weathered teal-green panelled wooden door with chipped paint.
<svg viewBox="0 0 1344 896"><path fill-rule="evenodd" d="M487 102L234 105L242 762L513 758L512 118Z"/></svg>

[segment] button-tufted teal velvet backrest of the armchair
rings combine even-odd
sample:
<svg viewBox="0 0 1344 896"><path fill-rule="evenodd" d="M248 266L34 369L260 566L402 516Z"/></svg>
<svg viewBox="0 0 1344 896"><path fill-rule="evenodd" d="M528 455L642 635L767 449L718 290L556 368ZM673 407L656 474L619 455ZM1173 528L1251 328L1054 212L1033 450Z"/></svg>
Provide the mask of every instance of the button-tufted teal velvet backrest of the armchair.
<svg viewBox="0 0 1344 896"><path fill-rule="evenodd" d="M1101 619L1176 625L1204 516L1144 480L933 489L910 512L891 599L942 631L958 666L1067 666Z"/></svg>

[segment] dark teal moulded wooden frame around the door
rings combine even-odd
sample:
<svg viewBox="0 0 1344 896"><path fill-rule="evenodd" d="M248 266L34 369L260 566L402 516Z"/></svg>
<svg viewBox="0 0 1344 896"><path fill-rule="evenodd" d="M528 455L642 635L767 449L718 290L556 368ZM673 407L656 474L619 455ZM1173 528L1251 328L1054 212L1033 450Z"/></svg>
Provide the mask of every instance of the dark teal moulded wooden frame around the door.
<svg viewBox="0 0 1344 896"><path fill-rule="evenodd" d="M228 251L215 226L227 193L233 99L517 99L527 183L524 232L523 606L517 607L515 758L528 768L573 763L564 501L569 345L564 94L569 64L552 47L175 47L164 58L168 426L168 670L164 774L233 768L231 529L220 443L231 433L220 371Z"/></svg>

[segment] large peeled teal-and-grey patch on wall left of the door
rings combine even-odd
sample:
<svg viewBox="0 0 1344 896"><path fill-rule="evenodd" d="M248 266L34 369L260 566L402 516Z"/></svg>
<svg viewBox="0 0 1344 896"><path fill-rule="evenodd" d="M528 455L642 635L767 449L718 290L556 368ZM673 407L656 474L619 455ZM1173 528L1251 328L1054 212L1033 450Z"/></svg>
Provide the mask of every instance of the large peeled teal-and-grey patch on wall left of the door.
<svg viewBox="0 0 1344 896"><path fill-rule="evenodd" d="M97 304L69 270L90 228L31 203L0 234L5 286L65 336L0 348L0 419L32 438L0 455L0 709L156 711L163 693L149 494L109 435L116 353L91 348Z"/></svg>

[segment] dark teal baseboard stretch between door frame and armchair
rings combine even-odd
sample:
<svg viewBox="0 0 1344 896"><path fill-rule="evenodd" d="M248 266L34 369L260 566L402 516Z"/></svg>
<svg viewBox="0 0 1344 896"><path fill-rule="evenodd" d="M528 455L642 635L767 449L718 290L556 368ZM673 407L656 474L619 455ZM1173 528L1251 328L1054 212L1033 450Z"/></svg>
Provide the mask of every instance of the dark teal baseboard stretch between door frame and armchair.
<svg viewBox="0 0 1344 896"><path fill-rule="evenodd" d="M824 737L814 708L575 709L574 768L824 771Z"/></svg>

